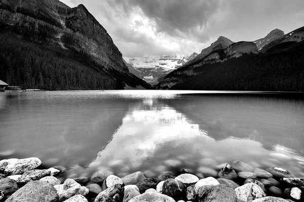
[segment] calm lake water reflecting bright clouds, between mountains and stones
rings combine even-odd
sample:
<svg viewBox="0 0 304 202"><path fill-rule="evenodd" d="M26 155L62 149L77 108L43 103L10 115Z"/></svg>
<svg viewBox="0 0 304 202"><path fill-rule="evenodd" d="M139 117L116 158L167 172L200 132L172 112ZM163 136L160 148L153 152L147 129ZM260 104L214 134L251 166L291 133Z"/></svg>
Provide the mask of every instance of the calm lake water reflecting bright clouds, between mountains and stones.
<svg viewBox="0 0 304 202"><path fill-rule="evenodd" d="M38 157L66 177L243 161L304 177L304 99L206 91L0 93L0 159ZM178 160L172 168L167 160ZM206 170L206 168L205 168ZM208 174L207 174L208 175Z"/></svg>

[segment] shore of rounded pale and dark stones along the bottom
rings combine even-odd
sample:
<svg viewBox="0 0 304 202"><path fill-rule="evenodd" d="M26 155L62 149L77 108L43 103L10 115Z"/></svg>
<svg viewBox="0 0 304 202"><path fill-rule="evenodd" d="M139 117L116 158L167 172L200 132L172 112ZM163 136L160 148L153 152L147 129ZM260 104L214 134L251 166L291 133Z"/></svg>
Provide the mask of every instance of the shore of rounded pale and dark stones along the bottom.
<svg viewBox="0 0 304 202"><path fill-rule="evenodd" d="M304 201L304 178L284 168L262 170L240 161L222 164L217 179L186 169L163 172L157 178L141 171L120 178L100 170L92 176L62 179L64 172L62 166L42 169L38 158L2 160L0 202Z"/></svg>

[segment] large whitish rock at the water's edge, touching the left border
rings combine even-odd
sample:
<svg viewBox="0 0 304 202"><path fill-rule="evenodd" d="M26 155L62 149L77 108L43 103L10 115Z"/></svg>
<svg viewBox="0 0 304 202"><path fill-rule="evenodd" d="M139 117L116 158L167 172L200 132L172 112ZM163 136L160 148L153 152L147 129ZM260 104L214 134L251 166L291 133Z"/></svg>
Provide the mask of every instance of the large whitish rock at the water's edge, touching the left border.
<svg viewBox="0 0 304 202"><path fill-rule="evenodd" d="M8 159L0 161L0 172L6 176L22 174L26 171L40 167L42 162L38 158Z"/></svg>

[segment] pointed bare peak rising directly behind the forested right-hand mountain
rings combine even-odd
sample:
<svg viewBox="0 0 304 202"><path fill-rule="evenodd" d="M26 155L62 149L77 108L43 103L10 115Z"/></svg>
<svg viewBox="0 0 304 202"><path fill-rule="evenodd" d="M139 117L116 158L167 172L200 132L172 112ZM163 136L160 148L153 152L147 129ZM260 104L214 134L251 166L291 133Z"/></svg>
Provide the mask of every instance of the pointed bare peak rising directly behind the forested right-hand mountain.
<svg viewBox="0 0 304 202"><path fill-rule="evenodd" d="M212 52L220 49L224 49L233 43L234 42L231 41L229 38L220 36L216 41L211 43L209 47L204 48L202 52L198 56L196 56L193 60L184 63L183 66L196 63L197 61L204 59L207 55L211 54Z"/></svg>

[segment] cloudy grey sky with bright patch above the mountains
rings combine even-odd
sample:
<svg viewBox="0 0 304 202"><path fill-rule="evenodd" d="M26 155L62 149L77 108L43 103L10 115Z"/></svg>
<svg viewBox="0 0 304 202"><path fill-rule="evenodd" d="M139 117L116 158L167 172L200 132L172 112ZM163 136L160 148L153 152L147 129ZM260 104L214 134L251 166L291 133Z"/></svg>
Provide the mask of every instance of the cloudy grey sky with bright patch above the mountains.
<svg viewBox="0 0 304 202"><path fill-rule="evenodd" d="M124 58L191 55L219 36L253 41L304 26L303 0L61 0L83 4Z"/></svg>

